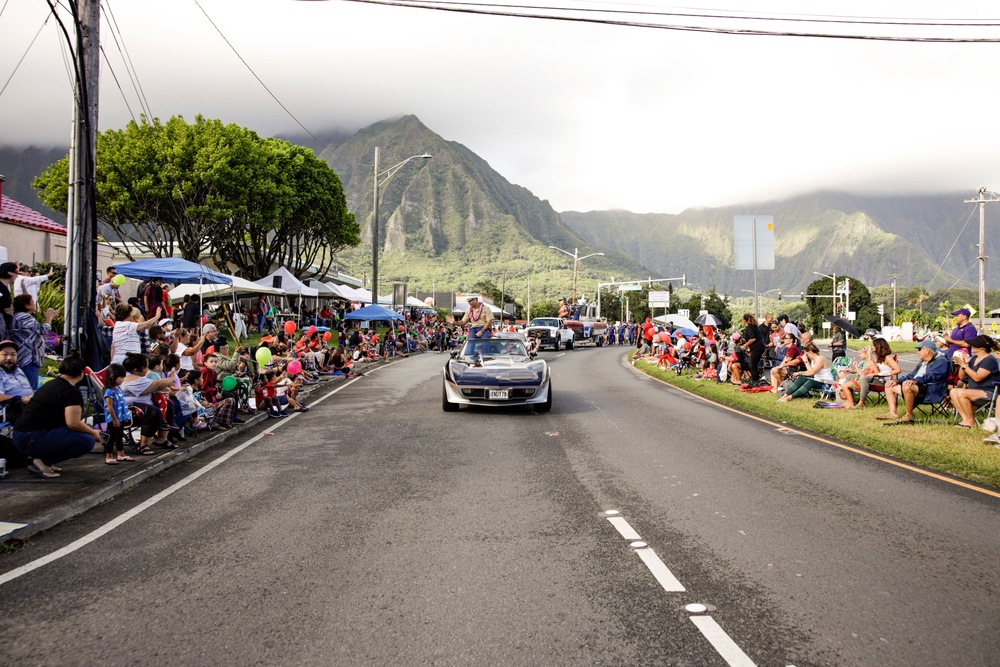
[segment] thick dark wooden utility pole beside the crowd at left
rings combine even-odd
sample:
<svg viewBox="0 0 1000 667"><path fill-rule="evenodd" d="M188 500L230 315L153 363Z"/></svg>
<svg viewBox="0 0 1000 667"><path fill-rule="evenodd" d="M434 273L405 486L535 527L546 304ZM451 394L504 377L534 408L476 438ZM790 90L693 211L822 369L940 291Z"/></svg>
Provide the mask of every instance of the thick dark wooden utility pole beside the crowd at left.
<svg viewBox="0 0 1000 667"><path fill-rule="evenodd" d="M74 40L70 50L74 54L75 105L66 220L64 354L70 349L84 352L86 324L96 299L100 13L100 0L79 0L73 34L66 35ZM90 355L85 356L90 361Z"/></svg>

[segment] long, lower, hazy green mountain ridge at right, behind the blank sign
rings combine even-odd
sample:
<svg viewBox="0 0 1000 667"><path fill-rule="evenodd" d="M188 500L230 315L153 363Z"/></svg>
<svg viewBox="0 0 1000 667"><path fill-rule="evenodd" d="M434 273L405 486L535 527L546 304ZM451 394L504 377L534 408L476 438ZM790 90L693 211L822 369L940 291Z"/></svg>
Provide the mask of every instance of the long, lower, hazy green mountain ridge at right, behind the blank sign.
<svg viewBox="0 0 1000 667"><path fill-rule="evenodd" d="M696 287L740 294L752 271L737 271L733 217L774 216L775 269L758 271L761 291L797 293L821 273L850 274L870 286L940 289L976 280L978 213L972 195L859 196L821 192L781 201L677 215L628 211L563 212L563 221L588 241L625 252L666 275L687 274ZM986 254L996 256L987 242Z"/></svg>

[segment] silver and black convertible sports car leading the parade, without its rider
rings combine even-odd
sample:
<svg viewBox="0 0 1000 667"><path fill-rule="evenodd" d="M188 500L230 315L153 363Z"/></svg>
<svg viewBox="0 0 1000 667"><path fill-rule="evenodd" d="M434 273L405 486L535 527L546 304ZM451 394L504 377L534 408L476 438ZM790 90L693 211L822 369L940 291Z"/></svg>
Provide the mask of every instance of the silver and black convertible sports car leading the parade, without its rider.
<svg viewBox="0 0 1000 667"><path fill-rule="evenodd" d="M462 405L552 409L549 365L529 354L519 336L472 338L451 356L444 367L441 408L445 412Z"/></svg>

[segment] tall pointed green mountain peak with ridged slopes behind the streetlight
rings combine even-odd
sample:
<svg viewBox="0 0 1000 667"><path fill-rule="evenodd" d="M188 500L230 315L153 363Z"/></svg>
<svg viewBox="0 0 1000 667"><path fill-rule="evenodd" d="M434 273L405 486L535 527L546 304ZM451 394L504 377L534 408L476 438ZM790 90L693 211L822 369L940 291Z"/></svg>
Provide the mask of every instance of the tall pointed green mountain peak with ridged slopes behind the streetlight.
<svg viewBox="0 0 1000 667"><path fill-rule="evenodd" d="M468 289L479 280L500 284L506 277L519 281L522 291L530 278L536 299L567 294L573 261L550 245L569 252L578 248L581 257L606 253L579 264L579 294L592 296L598 278L648 273L626 253L584 240L548 202L509 182L462 144L430 131L415 116L376 123L321 153L340 175L348 207L362 228L362 245L338 255L347 271L370 274L376 147L380 172L413 155L433 156L407 162L387 180L380 179L382 293L399 279L429 291L432 286Z"/></svg>

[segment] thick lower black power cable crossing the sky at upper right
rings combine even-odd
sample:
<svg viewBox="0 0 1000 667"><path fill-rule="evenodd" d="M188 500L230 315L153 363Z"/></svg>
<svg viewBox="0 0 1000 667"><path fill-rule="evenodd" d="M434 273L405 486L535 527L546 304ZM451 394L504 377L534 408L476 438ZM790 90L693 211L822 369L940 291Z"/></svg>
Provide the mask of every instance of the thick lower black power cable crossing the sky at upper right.
<svg viewBox="0 0 1000 667"><path fill-rule="evenodd" d="M476 14L482 16L506 16L512 18L540 19L547 21L564 21L569 23L585 23L596 25L610 25L629 28L651 28L655 30L670 30L674 32L696 32L717 35L743 35L756 37L808 37L813 39L849 39L875 42L910 42L910 43L964 43L964 44L989 44L1000 42L1000 37L908 37L892 35L858 35L858 34L837 34L823 32L791 32L782 30L759 30L746 28L722 28L707 25L684 25L671 23L645 23L639 21L612 20L589 18L586 16L565 16L558 14L531 13L525 11L507 11L503 9L485 9L491 5L461 6L455 3L448 5L431 4L434 0L422 0L421 2L407 2L405 0L341 0L341 2L353 2L358 4L382 5L387 7L407 7L410 9L427 9L431 11L441 11L456 14ZM503 7L504 5L492 5ZM517 6L512 6L517 9ZM581 12L576 8L556 8L555 11ZM727 17L730 18L730 17ZM779 19L774 19L779 20ZM938 27L947 27L944 24ZM986 26L989 27L989 26Z"/></svg>

